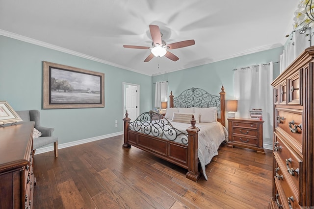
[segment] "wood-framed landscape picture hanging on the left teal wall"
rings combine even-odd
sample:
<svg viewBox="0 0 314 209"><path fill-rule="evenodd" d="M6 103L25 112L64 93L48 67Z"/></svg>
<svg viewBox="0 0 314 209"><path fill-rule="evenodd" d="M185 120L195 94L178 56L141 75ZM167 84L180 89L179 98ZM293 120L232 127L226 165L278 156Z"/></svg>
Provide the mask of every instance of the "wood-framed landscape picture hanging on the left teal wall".
<svg viewBox="0 0 314 209"><path fill-rule="evenodd" d="M105 74L43 62L43 108L105 107Z"/></svg>

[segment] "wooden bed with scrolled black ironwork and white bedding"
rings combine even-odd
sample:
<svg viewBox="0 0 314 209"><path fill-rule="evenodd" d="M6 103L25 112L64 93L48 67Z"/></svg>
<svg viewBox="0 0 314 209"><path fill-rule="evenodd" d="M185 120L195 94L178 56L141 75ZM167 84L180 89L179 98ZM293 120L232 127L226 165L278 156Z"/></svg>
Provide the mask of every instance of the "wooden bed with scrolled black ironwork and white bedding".
<svg viewBox="0 0 314 209"><path fill-rule="evenodd" d="M165 115L153 111L131 121L126 112L123 148L131 145L185 169L186 178L197 181L205 166L217 155L219 145L228 137L225 128L225 92L213 95L191 88L169 96Z"/></svg>

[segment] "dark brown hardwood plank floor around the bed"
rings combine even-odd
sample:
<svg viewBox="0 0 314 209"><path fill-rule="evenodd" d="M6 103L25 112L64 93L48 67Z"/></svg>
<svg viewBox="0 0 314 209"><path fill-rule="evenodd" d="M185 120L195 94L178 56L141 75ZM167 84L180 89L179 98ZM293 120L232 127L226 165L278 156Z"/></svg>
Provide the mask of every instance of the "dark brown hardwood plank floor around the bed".
<svg viewBox="0 0 314 209"><path fill-rule="evenodd" d="M34 156L34 209L263 209L272 188L272 155L222 145L195 183L186 170L123 136Z"/></svg>

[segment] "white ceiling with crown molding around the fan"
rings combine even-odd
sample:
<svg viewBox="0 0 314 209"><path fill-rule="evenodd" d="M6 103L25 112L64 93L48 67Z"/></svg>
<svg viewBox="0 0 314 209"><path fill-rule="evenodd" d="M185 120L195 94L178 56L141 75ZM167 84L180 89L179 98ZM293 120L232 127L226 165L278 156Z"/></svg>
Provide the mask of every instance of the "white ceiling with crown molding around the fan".
<svg viewBox="0 0 314 209"><path fill-rule="evenodd" d="M295 0L0 0L0 35L147 75L204 65L286 42ZM149 24L171 44L195 45L153 58ZM49 61L49 60L47 60ZM60 63L62 64L62 63Z"/></svg>

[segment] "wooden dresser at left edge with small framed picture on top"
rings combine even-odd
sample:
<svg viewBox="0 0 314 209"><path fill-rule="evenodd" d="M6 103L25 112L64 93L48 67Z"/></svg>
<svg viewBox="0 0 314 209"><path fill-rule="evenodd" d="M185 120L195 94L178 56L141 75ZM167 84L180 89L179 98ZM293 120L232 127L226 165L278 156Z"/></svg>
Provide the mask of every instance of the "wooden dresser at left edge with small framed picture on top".
<svg viewBox="0 0 314 209"><path fill-rule="evenodd" d="M0 127L0 209L31 209L34 122Z"/></svg>

